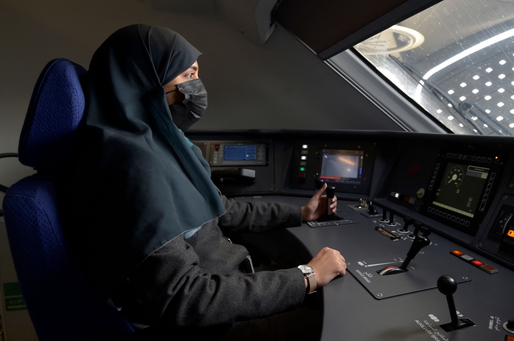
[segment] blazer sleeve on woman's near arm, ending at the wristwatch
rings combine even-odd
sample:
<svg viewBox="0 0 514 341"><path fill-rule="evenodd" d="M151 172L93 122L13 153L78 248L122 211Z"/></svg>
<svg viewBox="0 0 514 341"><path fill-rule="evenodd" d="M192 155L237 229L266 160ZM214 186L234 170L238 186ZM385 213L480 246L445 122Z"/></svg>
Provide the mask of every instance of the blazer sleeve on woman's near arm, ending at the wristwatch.
<svg viewBox="0 0 514 341"><path fill-rule="evenodd" d="M296 309L305 285L298 268L219 275L199 266L198 256L175 238L144 261L125 289L121 310L132 324L210 327Z"/></svg>

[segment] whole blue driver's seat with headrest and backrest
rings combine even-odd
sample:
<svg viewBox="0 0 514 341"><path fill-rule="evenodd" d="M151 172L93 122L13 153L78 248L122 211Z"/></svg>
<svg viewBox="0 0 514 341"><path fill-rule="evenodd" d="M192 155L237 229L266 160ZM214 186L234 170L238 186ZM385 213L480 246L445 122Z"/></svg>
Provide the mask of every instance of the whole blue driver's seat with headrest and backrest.
<svg viewBox="0 0 514 341"><path fill-rule="evenodd" d="M86 70L47 64L20 136L20 162L38 170L11 186L3 208L20 289L40 341L107 340L133 332L88 283L63 235L54 172L66 161L84 113Z"/></svg>

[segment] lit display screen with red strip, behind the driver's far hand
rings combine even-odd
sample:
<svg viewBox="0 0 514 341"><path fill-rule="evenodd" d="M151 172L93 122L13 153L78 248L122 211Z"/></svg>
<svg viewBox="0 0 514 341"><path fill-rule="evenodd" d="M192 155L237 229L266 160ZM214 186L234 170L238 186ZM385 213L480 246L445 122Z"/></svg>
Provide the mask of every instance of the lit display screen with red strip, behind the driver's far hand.
<svg viewBox="0 0 514 341"><path fill-rule="evenodd" d="M320 179L348 184L360 184L362 150L322 149Z"/></svg>

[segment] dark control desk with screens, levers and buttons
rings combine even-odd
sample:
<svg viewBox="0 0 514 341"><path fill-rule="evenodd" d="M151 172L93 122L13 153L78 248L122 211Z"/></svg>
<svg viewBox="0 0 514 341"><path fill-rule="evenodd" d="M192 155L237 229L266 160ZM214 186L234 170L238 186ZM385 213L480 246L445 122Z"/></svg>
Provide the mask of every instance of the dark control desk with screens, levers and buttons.
<svg viewBox="0 0 514 341"><path fill-rule="evenodd" d="M225 168L211 168L222 171L215 181L221 191L237 200L304 205L324 183L334 188L340 220L287 229L309 256L331 247L348 263L347 274L322 290L323 340L514 336L503 327L514 318L511 138L385 131L187 135L198 146L215 147L219 142L220 147L237 145L251 151L238 154L240 159L226 169L245 167L254 171L253 178L232 176L233 170L225 171L223 178ZM255 158L258 146L261 165L247 164L245 158ZM210 155L213 152L205 150L207 161ZM383 210L388 218L393 214L397 224L381 222ZM404 218L411 224L409 232L402 233ZM415 234L425 235L430 245L415 252L409 263L407 254L415 243L408 235L414 226ZM461 253L450 253L455 250ZM404 261L409 264L405 272L381 275L381 270L399 268ZM451 322L447 297L437 289L442 275L455 279L458 318L470 319L473 326L449 332L441 327Z"/></svg>

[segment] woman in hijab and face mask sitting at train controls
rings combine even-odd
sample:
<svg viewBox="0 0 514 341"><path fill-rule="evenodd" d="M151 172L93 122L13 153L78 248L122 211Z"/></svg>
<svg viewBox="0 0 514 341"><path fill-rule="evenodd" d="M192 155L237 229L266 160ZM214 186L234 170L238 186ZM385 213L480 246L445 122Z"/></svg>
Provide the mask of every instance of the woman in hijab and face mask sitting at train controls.
<svg viewBox="0 0 514 341"><path fill-rule="evenodd" d="M91 282L135 329L225 331L293 310L314 290L298 268L245 274L247 250L223 236L299 226L326 212L326 196L323 188L300 208L242 204L218 192L182 132L207 107L199 56L175 32L140 24L111 35L89 66L63 205ZM334 198L334 212L336 205ZM345 272L344 258L328 248L309 265L318 288Z"/></svg>

